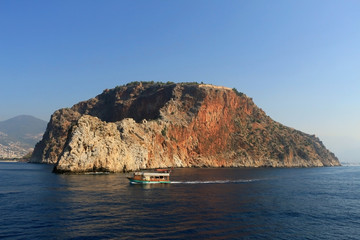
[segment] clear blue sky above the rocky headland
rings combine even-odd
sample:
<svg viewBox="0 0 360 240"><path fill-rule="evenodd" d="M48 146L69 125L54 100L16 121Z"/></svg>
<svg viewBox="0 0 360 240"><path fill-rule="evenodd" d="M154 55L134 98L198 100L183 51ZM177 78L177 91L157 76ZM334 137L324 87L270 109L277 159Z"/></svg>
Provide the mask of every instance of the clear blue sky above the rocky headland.
<svg viewBox="0 0 360 240"><path fill-rule="evenodd" d="M0 120L130 81L235 87L360 162L358 0L0 0Z"/></svg>

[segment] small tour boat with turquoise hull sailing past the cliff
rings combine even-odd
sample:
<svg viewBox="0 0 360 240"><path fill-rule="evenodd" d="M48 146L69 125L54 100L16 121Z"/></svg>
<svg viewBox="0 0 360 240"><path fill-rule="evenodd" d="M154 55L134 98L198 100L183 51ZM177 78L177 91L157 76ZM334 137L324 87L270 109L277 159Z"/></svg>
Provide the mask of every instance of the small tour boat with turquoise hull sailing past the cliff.
<svg viewBox="0 0 360 240"><path fill-rule="evenodd" d="M156 169L154 172L134 172L132 177L128 177L132 184L149 183L170 183L169 169Z"/></svg>

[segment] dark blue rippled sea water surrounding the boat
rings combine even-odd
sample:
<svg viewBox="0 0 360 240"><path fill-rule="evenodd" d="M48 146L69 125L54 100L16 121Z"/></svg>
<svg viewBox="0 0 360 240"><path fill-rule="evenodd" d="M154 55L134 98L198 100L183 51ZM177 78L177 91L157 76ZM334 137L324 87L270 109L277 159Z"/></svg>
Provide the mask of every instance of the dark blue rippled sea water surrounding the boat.
<svg viewBox="0 0 360 240"><path fill-rule="evenodd" d="M56 175L0 163L0 239L359 239L360 167Z"/></svg>

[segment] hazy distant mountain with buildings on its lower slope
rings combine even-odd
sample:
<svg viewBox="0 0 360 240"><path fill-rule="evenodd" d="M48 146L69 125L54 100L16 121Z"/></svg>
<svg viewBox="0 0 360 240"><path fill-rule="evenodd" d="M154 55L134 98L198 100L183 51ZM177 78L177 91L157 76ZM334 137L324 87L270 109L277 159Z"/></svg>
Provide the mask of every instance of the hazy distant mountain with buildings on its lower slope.
<svg viewBox="0 0 360 240"><path fill-rule="evenodd" d="M20 158L32 151L46 125L46 121L29 115L0 121L0 158Z"/></svg>

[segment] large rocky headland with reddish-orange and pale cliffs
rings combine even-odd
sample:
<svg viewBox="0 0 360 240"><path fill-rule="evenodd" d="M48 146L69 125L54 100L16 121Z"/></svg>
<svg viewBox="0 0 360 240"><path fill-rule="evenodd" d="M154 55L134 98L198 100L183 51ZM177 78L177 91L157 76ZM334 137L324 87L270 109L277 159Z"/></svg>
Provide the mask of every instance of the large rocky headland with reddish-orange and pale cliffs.
<svg viewBox="0 0 360 240"><path fill-rule="evenodd" d="M318 138L273 121L244 94L150 83L56 111L32 162L57 172L340 165Z"/></svg>

